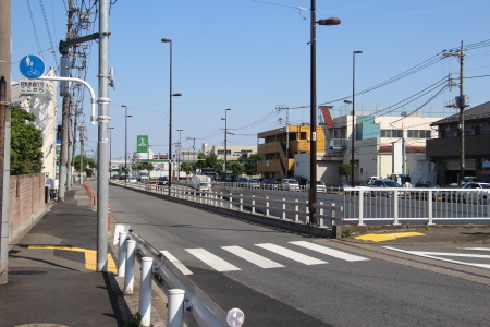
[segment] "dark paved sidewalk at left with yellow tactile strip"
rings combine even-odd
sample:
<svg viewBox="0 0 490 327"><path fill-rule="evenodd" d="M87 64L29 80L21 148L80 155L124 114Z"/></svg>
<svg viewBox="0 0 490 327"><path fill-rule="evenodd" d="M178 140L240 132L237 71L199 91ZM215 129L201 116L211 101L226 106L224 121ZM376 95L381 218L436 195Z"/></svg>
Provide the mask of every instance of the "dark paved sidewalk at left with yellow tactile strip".
<svg viewBox="0 0 490 327"><path fill-rule="evenodd" d="M10 245L9 281L0 286L0 327L123 326L137 312L138 279L126 302L110 246L109 270L114 272L95 271L97 213L84 187L74 185L64 203L52 205ZM163 326L156 319L155 326Z"/></svg>

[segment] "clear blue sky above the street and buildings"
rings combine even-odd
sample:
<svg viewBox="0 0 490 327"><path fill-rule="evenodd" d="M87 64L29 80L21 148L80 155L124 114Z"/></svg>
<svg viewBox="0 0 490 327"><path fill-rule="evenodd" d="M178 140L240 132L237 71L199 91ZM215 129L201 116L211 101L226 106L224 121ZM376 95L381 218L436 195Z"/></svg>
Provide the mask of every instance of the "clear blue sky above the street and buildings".
<svg viewBox="0 0 490 327"><path fill-rule="evenodd" d="M60 61L58 51L53 55L47 49L65 39L66 2L12 1L13 81L22 78L19 61L26 55L41 52L48 66L56 65L54 56ZM198 146L223 144L221 118L226 108L232 109L228 129L235 134L229 135L230 145L256 144L258 132L280 128L285 112L274 111L278 105L297 108L290 110L291 123L309 122L310 1L112 2L109 61L115 89L110 89L109 110L110 126L114 128L113 158L124 154L122 105L133 116L128 119L128 150L135 149L136 135L149 135L154 152L168 152L169 45L161 38L173 43L172 88L183 94L173 98L173 141L179 141L176 130L183 130L184 148L192 147L187 137L195 137ZM317 0L317 20L338 16L342 21L338 26L317 26L317 102L345 109L339 99L352 95L354 50L364 52L356 56L356 92L430 58L441 58L443 50L458 48L461 41L474 45L466 51L465 75L490 75L490 43L485 43L490 39L489 12L488 0ZM481 47L475 46L478 43ZM97 55L98 45L91 43L87 82L96 92ZM356 110L397 104L458 70L456 58L436 60L415 74L357 95ZM465 80L471 105L489 100L489 82L490 77ZM439 89L412 105L424 105ZM430 106L442 108L457 95L457 87L446 88ZM83 109L88 128L86 147L95 149L97 129L89 124L88 101ZM455 112L449 110L448 114Z"/></svg>

